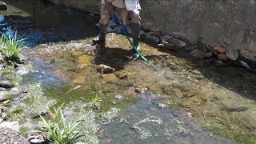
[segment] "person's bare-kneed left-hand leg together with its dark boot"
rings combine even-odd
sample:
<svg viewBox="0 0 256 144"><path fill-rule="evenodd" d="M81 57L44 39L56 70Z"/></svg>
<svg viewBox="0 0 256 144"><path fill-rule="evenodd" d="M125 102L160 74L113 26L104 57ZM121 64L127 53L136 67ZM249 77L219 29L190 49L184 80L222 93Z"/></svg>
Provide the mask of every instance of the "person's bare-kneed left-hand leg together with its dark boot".
<svg viewBox="0 0 256 144"><path fill-rule="evenodd" d="M109 10L106 10L104 0L102 0L101 18L99 21L99 34L97 38L93 39L94 44L105 44L109 20L110 20L110 12Z"/></svg>

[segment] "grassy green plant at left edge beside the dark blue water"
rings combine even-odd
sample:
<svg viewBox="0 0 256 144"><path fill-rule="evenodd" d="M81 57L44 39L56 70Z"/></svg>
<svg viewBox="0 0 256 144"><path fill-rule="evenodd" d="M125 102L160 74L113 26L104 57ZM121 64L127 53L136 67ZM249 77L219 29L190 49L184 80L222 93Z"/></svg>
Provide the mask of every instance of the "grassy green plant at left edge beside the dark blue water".
<svg viewBox="0 0 256 144"><path fill-rule="evenodd" d="M25 39L17 38L17 31L14 34L14 38L11 38L10 35L2 34L0 38L0 50L2 54L7 59L17 61L20 50L26 47L24 40Z"/></svg>

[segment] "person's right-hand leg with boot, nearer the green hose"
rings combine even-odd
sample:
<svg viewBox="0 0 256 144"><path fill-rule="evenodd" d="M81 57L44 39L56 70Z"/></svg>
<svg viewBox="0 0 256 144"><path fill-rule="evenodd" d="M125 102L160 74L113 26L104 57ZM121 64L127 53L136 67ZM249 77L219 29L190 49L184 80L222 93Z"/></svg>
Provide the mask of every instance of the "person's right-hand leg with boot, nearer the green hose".
<svg viewBox="0 0 256 144"><path fill-rule="evenodd" d="M133 37L134 46L136 46L139 50L138 42L139 42L139 32L141 30L141 18L139 15L139 10L134 10L129 12L129 18L131 18L131 32Z"/></svg>

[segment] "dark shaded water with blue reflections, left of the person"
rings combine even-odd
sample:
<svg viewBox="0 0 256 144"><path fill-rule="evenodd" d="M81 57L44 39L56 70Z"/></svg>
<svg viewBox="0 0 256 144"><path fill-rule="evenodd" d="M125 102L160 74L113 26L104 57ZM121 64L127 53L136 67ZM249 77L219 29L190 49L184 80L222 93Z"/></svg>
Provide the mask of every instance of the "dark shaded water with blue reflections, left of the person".
<svg viewBox="0 0 256 144"><path fill-rule="evenodd" d="M97 35L98 18L91 14L62 9L38 0L8 0L0 12L2 33L17 30L29 46L48 42L69 42Z"/></svg>

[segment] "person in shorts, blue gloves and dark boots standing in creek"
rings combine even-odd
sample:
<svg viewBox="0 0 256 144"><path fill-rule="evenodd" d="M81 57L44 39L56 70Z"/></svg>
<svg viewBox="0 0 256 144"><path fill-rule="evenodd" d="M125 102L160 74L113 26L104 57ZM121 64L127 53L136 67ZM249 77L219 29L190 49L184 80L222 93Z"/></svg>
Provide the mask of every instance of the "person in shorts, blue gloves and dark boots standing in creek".
<svg viewBox="0 0 256 144"><path fill-rule="evenodd" d="M122 9L122 24L120 23L118 17L114 14L116 8ZM139 0L102 0L99 34L97 38L93 39L93 43L105 46L108 22L110 18L117 26L122 26L122 34L127 35L127 21L130 19L134 46L140 50L138 46L139 32L141 30L141 18L139 14L140 10L141 6L139 4Z"/></svg>

